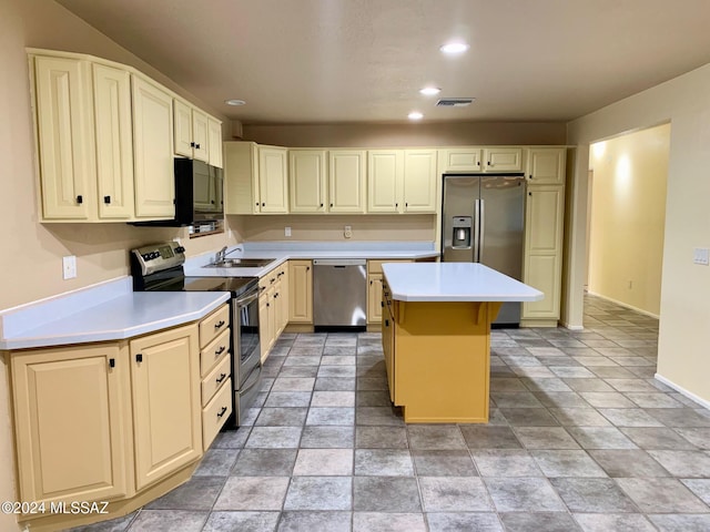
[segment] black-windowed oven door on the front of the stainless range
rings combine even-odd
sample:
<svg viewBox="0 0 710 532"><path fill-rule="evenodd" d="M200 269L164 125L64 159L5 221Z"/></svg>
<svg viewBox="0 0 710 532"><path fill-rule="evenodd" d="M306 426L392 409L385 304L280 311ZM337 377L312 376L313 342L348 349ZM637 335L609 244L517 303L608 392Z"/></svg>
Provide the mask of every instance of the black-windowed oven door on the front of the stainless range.
<svg viewBox="0 0 710 532"><path fill-rule="evenodd" d="M242 389L246 377L261 364L258 340L258 287L232 300L234 335L234 387Z"/></svg>

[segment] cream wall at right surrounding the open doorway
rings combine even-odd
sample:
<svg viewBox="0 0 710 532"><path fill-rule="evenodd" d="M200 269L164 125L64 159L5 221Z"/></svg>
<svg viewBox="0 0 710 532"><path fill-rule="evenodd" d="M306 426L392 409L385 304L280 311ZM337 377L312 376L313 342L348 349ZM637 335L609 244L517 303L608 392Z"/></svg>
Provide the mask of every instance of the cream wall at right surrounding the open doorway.
<svg viewBox="0 0 710 532"><path fill-rule="evenodd" d="M577 157L565 321L581 325L582 318L590 143L666 122L671 135L658 374L710 401L710 267L692 264L693 247L710 247L710 64L568 124Z"/></svg>

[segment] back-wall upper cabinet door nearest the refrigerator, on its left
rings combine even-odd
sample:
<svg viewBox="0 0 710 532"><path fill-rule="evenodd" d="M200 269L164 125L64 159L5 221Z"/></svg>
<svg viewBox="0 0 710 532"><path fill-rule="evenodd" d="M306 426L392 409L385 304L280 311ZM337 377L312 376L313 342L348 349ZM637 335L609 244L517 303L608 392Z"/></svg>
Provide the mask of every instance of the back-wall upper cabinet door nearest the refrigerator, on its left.
<svg viewBox="0 0 710 532"><path fill-rule="evenodd" d="M436 150L405 150L404 212L436 213Z"/></svg>

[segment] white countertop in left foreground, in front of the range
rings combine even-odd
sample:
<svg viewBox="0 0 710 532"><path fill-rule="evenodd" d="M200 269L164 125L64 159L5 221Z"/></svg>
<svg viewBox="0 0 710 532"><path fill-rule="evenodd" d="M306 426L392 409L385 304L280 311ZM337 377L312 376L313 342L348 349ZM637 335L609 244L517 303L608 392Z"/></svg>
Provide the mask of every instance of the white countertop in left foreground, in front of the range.
<svg viewBox="0 0 710 532"><path fill-rule="evenodd" d="M36 318L36 327L6 330L0 338L0 349L131 338L202 319L229 298L227 291L128 291L102 303L81 307L54 300L50 303L54 305L52 310L43 313L47 314L44 321ZM64 311L61 311L62 305ZM51 316L55 318L52 319Z"/></svg>

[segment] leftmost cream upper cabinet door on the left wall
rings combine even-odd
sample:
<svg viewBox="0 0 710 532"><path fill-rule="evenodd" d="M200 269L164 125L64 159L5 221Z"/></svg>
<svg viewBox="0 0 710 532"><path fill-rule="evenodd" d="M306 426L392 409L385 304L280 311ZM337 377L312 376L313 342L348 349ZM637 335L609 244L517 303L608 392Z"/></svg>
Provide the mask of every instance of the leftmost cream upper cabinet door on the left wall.
<svg viewBox="0 0 710 532"><path fill-rule="evenodd" d="M93 187L89 65L34 58L39 173L44 219L88 219Z"/></svg>

